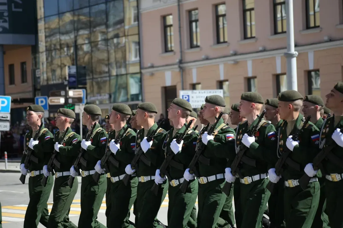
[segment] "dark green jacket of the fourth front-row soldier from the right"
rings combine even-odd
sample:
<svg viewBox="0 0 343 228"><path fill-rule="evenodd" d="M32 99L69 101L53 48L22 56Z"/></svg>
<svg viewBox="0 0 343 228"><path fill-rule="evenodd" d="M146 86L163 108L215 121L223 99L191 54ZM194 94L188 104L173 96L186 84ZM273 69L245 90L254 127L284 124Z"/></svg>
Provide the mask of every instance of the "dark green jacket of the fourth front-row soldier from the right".
<svg viewBox="0 0 343 228"><path fill-rule="evenodd" d="M197 144L200 143L203 133L209 130L208 126L209 125L201 130ZM209 140L203 152L203 156L210 159L210 165L199 162L200 177L224 173L226 159L228 158L230 151L232 152L232 150L234 150L233 139L235 137L235 132L224 123L222 118L218 121L213 133L214 139Z"/></svg>

